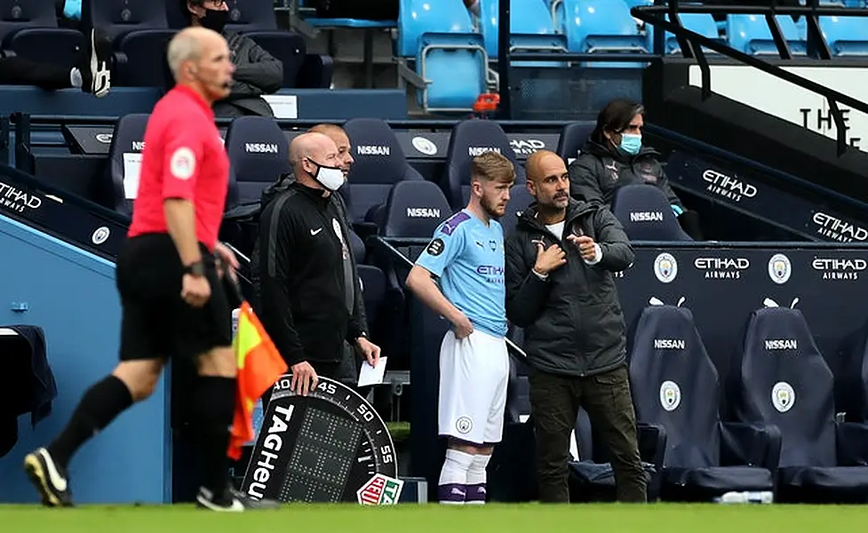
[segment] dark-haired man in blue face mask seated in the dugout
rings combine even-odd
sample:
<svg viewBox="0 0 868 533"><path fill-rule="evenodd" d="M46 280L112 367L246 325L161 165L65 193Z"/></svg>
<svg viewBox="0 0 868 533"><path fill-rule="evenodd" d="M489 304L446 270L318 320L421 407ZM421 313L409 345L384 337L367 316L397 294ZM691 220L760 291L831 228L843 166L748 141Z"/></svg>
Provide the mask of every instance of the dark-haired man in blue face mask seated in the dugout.
<svg viewBox="0 0 868 533"><path fill-rule="evenodd" d="M618 187L641 183L659 187L684 231L702 240L697 213L687 210L669 187L660 153L642 144L644 114L641 104L626 99L612 100L602 108L596 128L569 165L571 195L610 206Z"/></svg>

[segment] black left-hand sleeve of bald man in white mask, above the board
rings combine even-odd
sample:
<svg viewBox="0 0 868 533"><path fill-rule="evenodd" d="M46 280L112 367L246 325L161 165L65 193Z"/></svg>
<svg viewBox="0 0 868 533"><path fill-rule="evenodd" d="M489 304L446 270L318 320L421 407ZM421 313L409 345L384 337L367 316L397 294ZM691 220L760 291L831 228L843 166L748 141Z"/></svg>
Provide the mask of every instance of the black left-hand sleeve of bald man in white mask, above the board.
<svg viewBox="0 0 868 533"><path fill-rule="evenodd" d="M288 282L295 232L291 219L284 216L284 212L285 209L268 210L259 221L259 320L283 360L292 366L306 358L292 317Z"/></svg>

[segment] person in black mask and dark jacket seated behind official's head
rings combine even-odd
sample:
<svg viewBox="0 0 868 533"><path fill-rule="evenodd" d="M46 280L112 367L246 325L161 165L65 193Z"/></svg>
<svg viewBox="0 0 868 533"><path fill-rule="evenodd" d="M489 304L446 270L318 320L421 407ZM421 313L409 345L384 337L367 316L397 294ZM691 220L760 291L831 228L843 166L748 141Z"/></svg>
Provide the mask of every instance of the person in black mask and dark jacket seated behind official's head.
<svg viewBox="0 0 868 533"><path fill-rule="evenodd" d="M250 37L225 31L229 11L224 0L180 0L180 2L181 11L189 16L191 26L213 29L226 37L229 45L229 53L235 65L232 89L227 99L214 104L214 115L274 116L274 111L262 95L273 94L280 90L283 84L283 63L275 60Z"/></svg>

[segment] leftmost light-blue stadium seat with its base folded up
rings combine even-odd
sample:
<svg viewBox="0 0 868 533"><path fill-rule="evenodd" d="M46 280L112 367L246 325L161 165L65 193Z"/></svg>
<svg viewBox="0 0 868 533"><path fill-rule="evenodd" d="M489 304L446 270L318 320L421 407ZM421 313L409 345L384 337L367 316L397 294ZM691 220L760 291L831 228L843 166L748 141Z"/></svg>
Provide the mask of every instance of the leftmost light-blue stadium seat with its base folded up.
<svg viewBox="0 0 868 533"><path fill-rule="evenodd" d="M482 36L460 2L401 0L395 56L415 60L425 84L417 91L426 111L465 112L487 91L488 56Z"/></svg>

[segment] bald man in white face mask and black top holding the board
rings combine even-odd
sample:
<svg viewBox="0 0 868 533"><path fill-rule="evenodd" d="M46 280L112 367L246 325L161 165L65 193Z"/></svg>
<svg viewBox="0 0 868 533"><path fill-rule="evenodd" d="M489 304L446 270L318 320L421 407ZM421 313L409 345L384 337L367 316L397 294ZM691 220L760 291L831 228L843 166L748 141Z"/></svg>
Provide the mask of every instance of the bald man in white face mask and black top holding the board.
<svg viewBox="0 0 868 533"><path fill-rule="evenodd" d="M335 202L344 185L338 147L323 133L292 140L294 180L268 203L256 245L257 313L292 372L291 387L307 394L318 375L346 376L344 342L376 365L379 347L354 313L361 298L349 229Z"/></svg>

